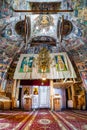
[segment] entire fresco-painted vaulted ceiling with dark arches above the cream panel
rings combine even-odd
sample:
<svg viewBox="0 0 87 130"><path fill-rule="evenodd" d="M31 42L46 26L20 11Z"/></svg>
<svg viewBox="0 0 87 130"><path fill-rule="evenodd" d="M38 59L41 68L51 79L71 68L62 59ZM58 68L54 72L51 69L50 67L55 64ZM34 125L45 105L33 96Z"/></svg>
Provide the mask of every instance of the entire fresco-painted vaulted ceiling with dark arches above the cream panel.
<svg viewBox="0 0 87 130"><path fill-rule="evenodd" d="M50 52L67 52L87 75L87 0L0 0L0 77L19 54L38 53L42 46Z"/></svg>

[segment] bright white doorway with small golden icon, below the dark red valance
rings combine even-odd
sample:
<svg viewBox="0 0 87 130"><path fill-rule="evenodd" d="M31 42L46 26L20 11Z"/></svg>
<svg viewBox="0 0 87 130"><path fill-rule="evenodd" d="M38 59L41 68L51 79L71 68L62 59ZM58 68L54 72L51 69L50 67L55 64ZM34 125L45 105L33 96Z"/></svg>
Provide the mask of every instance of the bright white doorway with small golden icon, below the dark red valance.
<svg viewBox="0 0 87 130"><path fill-rule="evenodd" d="M50 107L50 87L33 86L32 108L49 108Z"/></svg>

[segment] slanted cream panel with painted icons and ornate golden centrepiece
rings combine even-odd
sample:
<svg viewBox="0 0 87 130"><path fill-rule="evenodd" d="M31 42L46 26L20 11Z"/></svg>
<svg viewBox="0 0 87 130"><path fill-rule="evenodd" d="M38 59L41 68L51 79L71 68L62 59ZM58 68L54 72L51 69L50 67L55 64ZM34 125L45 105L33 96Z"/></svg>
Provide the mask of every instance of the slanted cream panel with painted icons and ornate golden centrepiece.
<svg viewBox="0 0 87 130"><path fill-rule="evenodd" d="M49 53L42 48L38 54L22 54L14 79L76 78L74 68L66 53Z"/></svg>

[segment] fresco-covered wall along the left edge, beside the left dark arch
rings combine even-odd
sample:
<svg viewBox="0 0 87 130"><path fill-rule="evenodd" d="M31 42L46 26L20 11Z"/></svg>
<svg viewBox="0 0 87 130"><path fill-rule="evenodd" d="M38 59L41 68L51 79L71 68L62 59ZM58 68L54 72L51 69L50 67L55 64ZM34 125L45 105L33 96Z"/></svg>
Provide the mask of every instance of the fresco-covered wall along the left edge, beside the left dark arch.
<svg viewBox="0 0 87 130"><path fill-rule="evenodd" d="M0 1L0 80L6 78L10 63L16 52L20 50L23 40L14 30L15 22L19 17L12 17L14 13L11 5L12 0Z"/></svg>

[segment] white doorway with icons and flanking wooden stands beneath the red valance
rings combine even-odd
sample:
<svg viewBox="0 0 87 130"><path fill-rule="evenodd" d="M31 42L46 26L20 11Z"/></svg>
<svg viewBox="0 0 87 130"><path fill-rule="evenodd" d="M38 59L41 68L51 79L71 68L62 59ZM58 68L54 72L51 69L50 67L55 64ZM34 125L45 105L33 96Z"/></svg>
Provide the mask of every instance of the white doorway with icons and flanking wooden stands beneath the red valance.
<svg viewBox="0 0 87 130"><path fill-rule="evenodd" d="M60 111L66 108L66 94L64 89L52 89L51 86L44 85L21 85L21 88L20 99L16 99L20 104L16 106L17 108L21 106L21 109L28 111L37 110L39 108Z"/></svg>

